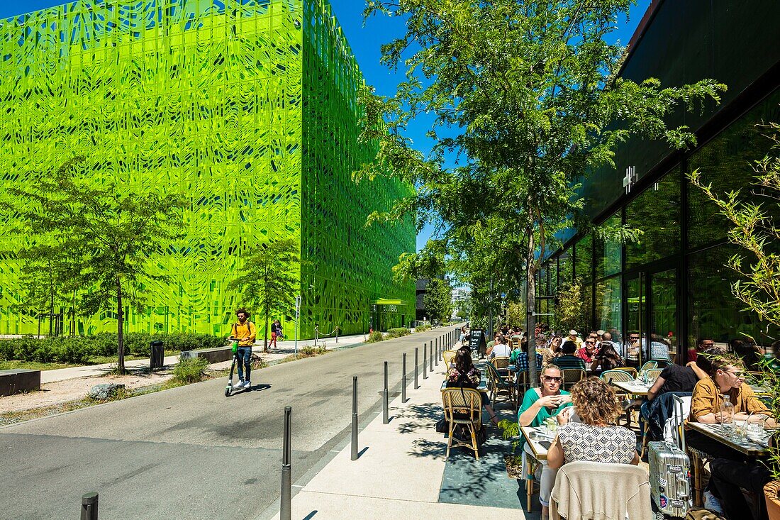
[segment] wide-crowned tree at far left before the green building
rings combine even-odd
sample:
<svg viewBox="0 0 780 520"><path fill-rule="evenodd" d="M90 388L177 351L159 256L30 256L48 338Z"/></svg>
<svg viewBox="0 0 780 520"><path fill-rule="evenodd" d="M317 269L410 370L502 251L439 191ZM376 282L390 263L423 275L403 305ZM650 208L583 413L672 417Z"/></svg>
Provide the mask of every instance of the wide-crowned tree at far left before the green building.
<svg viewBox="0 0 780 520"><path fill-rule="evenodd" d="M27 272L33 258L56 258L52 280L79 298L82 312L115 312L117 371L124 373L124 307L144 308L144 282L170 280L155 271L154 257L172 251L181 237L184 201L178 194L120 189L110 178L97 186L84 162L73 158L29 187L9 189L16 202L3 207L12 211L16 232L30 238L20 251Z"/></svg>

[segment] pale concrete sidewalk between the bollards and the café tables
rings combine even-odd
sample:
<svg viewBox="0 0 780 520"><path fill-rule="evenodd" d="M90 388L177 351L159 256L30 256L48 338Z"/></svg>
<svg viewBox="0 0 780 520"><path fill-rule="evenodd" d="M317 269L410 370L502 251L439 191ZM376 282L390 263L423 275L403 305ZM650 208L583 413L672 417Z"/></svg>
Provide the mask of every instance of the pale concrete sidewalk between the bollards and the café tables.
<svg viewBox="0 0 780 520"><path fill-rule="evenodd" d="M293 519L526 518L519 509L439 501L447 441L434 425L443 416L440 388L444 374L439 361L428 379L420 373L419 390L414 390L413 379L409 379L408 401L402 403L400 396L392 401L390 422L382 424L380 414L360 432L358 460L350 460L347 440L319 472L303 475L293 485L293 492L299 490L293 497ZM453 448L452 454L456 451ZM481 458L475 461L480 462ZM279 518L272 513L266 511L257 520Z"/></svg>

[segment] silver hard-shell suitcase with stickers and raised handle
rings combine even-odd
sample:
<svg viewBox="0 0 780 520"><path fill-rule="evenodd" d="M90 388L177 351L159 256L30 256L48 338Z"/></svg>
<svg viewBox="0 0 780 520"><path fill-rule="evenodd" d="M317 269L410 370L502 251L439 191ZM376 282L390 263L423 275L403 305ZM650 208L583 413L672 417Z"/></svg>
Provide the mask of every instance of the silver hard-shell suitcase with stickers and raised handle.
<svg viewBox="0 0 780 520"><path fill-rule="evenodd" d="M679 417L683 417L683 400L675 396ZM683 518L690 508L690 458L685 437L675 433L680 446L663 441L647 443L647 464L650 466L651 497L658 511Z"/></svg>

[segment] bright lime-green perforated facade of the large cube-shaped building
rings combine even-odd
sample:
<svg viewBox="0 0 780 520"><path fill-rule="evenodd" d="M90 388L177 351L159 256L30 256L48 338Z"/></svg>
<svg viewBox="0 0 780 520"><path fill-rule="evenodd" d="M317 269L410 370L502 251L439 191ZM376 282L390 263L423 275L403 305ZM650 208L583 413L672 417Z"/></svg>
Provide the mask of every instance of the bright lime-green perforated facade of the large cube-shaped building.
<svg viewBox="0 0 780 520"><path fill-rule="evenodd" d="M225 287L242 256L283 237L301 244L301 337L314 323L365 332L380 298L405 304L381 307L385 326L410 324L413 284L391 267L413 251L413 224L363 226L410 187L351 180L374 148L357 139L363 77L327 2L71 2L2 20L0 52L3 188L78 153L95 183L190 202L185 243L155 259L175 281L151 287L146 312L127 309L129 331L227 332L238 298ZM0 250L12 251L6 225ZM18 276L2 258L0 334L37 330L36 313L17 308Z"/></svg>

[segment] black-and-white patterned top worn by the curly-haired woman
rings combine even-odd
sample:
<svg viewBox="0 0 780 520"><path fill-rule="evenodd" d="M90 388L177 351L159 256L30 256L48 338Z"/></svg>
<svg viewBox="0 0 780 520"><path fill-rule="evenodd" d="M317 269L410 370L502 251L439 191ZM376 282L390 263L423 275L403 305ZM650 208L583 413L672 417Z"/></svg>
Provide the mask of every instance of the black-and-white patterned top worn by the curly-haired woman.
<svg viewBox="0 0 780 520"><path fill-rule="evenodd" d="M568 422L558 427L566 463L575 461L630 464L636 454L636 435L622 426L592 426Z"/></svg>

